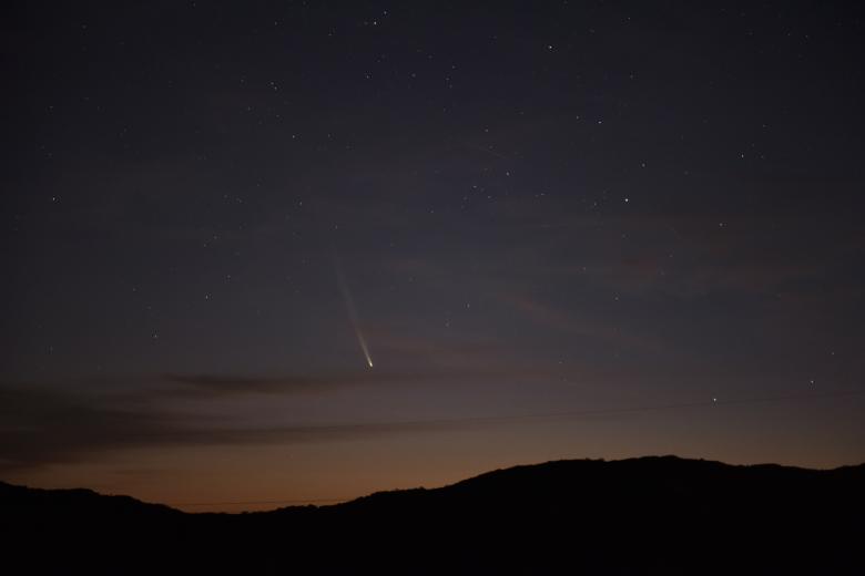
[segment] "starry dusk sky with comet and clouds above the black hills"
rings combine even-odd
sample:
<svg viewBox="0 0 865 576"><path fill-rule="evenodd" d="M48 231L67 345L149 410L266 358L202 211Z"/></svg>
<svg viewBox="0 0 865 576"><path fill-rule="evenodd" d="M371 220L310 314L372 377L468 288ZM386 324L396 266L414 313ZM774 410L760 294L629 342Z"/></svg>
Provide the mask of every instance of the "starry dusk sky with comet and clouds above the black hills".
<svg viewBox="0 0 865 576"><path fill-rule="evenodd" d="M865 461L862 4L18 4L3 480Z"/></svg>

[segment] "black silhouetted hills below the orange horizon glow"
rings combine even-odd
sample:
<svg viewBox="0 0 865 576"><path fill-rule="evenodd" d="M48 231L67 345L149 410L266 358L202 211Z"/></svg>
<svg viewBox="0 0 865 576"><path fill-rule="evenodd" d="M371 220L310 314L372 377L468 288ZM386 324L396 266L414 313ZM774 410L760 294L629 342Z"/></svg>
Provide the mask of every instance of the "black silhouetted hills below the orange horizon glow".
<svg viewBox="0 0 865 576"><path fill-rule="evenodd" d="M6 574L865 574L865 464L560 461L242 515L0 483L0 515Z"/></svg>

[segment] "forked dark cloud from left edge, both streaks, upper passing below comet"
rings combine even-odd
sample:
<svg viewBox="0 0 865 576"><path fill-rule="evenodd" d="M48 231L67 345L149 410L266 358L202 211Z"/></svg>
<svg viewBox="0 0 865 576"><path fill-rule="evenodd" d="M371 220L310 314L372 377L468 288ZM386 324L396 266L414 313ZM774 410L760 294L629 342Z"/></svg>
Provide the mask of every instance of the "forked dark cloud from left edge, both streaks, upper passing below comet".
<svg viewBox="0 0 865 576"><path fill-rule="evenodd" d="M528 378L526 371L520 372ZM101 455L147 448L306 443L419 432L446 422L307 421L260 424L213 402L258 395L338 393L358 385L421 384L429 381L495 380L507 371L454 369L424 373L364 372L330 378L165 374L135 379L118 392L118 381L86 387L0 383L0 472L45 464L93 461ZM542 378L542 374L533 374ZM65 384L65 385L64 385Z"/></svg>

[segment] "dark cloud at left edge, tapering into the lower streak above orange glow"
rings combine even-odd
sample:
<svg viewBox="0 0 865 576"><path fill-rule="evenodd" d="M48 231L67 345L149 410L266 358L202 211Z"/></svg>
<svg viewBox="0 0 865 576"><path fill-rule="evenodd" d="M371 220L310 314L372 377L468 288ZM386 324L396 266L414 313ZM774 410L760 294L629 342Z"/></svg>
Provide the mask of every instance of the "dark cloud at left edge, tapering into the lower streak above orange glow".
<svg viewBox="0 0 865 576"><path fill-rule="evenodd" d="M124 404L42 387L0 387L0 472L89 461L113 451L298 443L440 428L424 422L241 425L231 416Z"/></svg>

